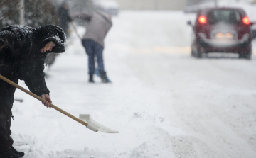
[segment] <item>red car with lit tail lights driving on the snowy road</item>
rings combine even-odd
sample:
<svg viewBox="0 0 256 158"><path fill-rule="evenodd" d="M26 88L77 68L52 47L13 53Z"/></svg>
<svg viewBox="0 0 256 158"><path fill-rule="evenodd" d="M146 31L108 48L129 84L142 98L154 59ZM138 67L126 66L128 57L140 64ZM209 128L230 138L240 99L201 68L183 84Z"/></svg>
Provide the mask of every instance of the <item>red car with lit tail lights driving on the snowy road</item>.
<svg viewBox="0 0 256 158"><path fill-rule="evenodd" d="M250 59L252 24L242 9L201 9L193 26L191 55L201 58L208 52L233 52L240 58ZM192 26L191 21L188 25Z"/></svg>

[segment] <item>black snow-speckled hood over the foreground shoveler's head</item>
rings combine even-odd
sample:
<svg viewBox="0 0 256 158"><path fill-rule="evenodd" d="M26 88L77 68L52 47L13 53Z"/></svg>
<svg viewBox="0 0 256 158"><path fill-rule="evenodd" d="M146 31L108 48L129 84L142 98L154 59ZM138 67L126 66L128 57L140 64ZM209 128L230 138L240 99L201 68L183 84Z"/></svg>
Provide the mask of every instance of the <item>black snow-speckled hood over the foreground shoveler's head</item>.
<svg viewBox="0 0 256 158"><path fill-rule="evenodd" d="M62 28L54 25L39 26L36 28L35 40L43 48L48 42L53 41L55 47L49 52L65 52L66 36Z"/></svg>

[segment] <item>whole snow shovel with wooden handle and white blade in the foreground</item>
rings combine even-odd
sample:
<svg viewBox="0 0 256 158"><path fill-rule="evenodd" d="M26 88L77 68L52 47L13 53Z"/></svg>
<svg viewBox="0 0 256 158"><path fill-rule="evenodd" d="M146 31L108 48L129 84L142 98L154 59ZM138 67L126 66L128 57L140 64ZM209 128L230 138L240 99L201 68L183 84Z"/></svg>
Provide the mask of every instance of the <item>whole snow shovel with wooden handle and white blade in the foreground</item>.
<svg viewBox="0 0 256 158"><path fill-rule="evenodd" d="M45 99L36 96L36 94L33 94L31 91L28 91L24 89L22 86L19 86L18 84L14 83L13 81L6 79L6 77L3 77L0 74L0 79L6 81L8 84L11 84L12 86L15 86L17 89L20 89L21 91L24 91L26 94L29 94L33 96L34 98L38 99L39 101L46 101ZM58 108L57 106L54 106L52 103L50 103L50 107L54 108L56 111L59 111L60 113L63 113L64 115L67 115L68 117L72 118L73 120L78 121L78 123L81 123L82 125L85 125L90 130L93 130L95 132L101 131L101 132L107 132L107 133L118 133L116 130L112 130L110 128L106 128L103 125L100 125L100 123L95 122L95 120L92 120L90 115L88 114L80 114L79 118L76 118L75 116L71 115L70 113L67 113L66 111L63 111L63 109Z"/></svg>

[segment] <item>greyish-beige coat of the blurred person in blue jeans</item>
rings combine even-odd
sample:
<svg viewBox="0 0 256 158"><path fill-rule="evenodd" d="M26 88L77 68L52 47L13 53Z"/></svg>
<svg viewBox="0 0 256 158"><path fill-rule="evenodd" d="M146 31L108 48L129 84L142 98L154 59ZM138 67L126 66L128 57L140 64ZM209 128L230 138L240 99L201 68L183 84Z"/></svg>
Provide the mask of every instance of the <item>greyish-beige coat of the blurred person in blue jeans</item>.
<svg viewBox="0 0 256 158"><path fill-rule="evenodd" d="M91 39L104 47L104 39L112 27L111 16L102 11L89 13L75 13L71 18L82 18L87 21L86 32L83 39Z"/></svg>

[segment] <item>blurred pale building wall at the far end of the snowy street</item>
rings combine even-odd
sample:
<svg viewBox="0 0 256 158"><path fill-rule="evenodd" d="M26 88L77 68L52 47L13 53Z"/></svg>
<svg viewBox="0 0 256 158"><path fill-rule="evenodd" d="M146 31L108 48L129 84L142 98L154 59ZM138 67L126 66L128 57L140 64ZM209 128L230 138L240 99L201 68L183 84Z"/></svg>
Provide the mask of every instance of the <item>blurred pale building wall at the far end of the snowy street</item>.
<svg viewBox="0 0 256 158"><path fill-rule="evenodd" d="M186 0L116 0L120 9L181 10Z"/></svg>

